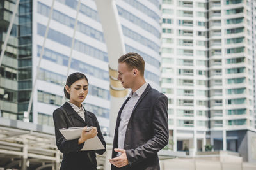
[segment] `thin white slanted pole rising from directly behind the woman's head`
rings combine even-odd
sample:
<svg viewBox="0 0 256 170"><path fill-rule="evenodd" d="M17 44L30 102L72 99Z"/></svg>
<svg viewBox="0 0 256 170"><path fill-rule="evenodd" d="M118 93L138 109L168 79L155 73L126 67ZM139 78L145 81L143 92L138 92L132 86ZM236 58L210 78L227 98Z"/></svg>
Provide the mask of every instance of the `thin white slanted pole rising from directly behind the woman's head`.
<svg viewBox="0 0 256 170"><path fill-rule="evenodd" d="M75 25L74 25L74 31L73 31L73 36L72 36L72 43L71 43L70 54L69 54L69 58L68 58L67 78L68 78L68 74L69 74L69 70L70 70L70 66L71 66L72 52L73 52L74 43L75 43L77 18L78 18L78 14L79 14L79 10L80 10L80 4L81 4L81 1L79 0L78 4L77 4L77 8L76 8L76 21L75 21ZM65 95L62 97L62 103L65 103Z"/></svg>

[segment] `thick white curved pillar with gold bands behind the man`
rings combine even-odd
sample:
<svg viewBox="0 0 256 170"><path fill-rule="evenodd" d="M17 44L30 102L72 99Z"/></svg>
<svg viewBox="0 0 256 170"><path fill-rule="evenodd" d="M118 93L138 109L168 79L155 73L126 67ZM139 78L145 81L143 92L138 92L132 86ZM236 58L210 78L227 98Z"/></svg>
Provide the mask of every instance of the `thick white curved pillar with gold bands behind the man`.
<svg viewBox="0 0 256 170"><path fill-rule="evenodd" d="M104 38L108 49L109 78L110 78L110 115L109 136L114 136L116 117L122 103L128 94L117 80L118 58L125 53L124 37L118 17L116 3L113 0L95 0Z"/></svg>

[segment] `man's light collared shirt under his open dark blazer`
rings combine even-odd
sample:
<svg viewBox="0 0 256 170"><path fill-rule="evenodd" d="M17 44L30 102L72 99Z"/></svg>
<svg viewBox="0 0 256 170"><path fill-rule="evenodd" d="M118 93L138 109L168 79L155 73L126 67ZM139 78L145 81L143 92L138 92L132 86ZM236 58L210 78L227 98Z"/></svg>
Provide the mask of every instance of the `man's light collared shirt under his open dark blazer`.
<svg viewBox="0 0 256 170"><path fill-rule="evenodd" d="M141 87L138 90L136 90L135 92L131 91L131 93L129 94L129 101L127 101L121 113L120 125L118 128L118 148L121 148L121 149L124 148L125 132L127 129L129 119L132 114L132 110L135 104L140 99L143 92L145 91L145 89L147 88L147 85L148 83L144 83L143 85L141 85ZM118 152L118 155L119 153L120 152Z"/></svg>

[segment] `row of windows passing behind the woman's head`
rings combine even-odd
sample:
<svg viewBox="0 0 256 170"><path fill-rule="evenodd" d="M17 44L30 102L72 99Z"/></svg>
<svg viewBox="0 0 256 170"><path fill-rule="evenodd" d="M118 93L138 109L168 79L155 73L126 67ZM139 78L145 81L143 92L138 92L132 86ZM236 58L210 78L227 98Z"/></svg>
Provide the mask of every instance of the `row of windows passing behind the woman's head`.
<svg viewBox="0 0 256 170"><path fill-rule="evenodd" d="M38 78L40 80L55 83L61 86L65 85L65 80L66 80L66 76L62 76L61 74L56 74L54 72L47 71L45 69L40 69L40 74ZM101 89L100 87L96 87L94 85L89 85L88 94L92 96L97 96L106 100L110 99L110 94L108 90Z"/></svg>

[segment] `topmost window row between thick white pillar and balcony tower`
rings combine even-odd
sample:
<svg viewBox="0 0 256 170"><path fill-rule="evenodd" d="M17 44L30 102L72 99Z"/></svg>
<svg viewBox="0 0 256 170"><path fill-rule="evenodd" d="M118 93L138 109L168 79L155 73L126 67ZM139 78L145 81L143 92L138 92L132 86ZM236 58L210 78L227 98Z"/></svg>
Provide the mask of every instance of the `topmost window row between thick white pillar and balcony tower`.
<svg viewBox="0 0 256 170"><path fill-rule="evenodd" d="M157 23L159 22L160 17L157 15L157 13L150 10L149 8L147 8L146 6L141 4L140 2L138 2L136 0L125 0L125 2L131 4L134 8L137 8L142 13L145 13L146 15L148 15L148 17L153 18L154 20L156 20Z"/></svg>

